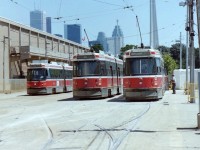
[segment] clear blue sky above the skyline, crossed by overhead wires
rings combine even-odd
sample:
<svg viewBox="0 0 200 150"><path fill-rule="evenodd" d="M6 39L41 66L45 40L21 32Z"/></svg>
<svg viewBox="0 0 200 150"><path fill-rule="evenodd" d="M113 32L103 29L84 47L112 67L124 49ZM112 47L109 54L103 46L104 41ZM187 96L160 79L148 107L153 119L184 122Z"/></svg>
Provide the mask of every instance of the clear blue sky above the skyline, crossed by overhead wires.
<svg viewBox="0 0 200 150"><path fill-rule="evenodd" d="M149 2L150 0L0 0L0 16L30 25L30 11L43 10L52 19L52 33L64 33L66 24L81 24L86 29L90 40L96 40L98 32L106 37L119 20L124 34L125 44L140 45L139 30L136 22L138 16L144 45L149 45ZM182 43L185 43L186 7L179 6L181 0L156 0L159 44L171 46L179 40L182 32ZM184 1L184 0L183 0ZM131 7L131 9L125 7ZM133 9L133 11L132 11ZM195 12L196 14L196 12ZM196 15L194 16L196 22ZM194 26L197 32L197 26ZM82 37L85 33L82 32ZM197 47L195 36L195 47ZM84 41L83 45L87 45Z"/></svg>

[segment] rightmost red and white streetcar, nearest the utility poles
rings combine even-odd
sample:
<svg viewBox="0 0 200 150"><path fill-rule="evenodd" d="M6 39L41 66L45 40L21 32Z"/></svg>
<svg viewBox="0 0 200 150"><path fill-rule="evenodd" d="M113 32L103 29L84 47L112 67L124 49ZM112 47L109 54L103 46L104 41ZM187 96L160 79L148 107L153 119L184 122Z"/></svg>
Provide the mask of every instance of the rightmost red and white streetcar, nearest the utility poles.
<svg viewBox="0 0 200 150"><path fill-rule="evenodd" d="M132 49L125 52L123 95L127 100L160 99L167 85L159 50Z"/></svg>

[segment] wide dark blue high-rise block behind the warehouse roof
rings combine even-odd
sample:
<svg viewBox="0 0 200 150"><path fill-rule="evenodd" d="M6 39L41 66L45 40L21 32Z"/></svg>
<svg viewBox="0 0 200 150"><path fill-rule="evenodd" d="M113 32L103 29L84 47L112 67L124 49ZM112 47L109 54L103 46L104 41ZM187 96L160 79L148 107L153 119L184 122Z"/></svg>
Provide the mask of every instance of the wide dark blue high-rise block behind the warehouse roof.
<svg viewBox="0 0 200 150"><path fill-rule="evenodd" d="M81 25L80 24L65 24L64 38L70 41L81 44Z"/></svg>

